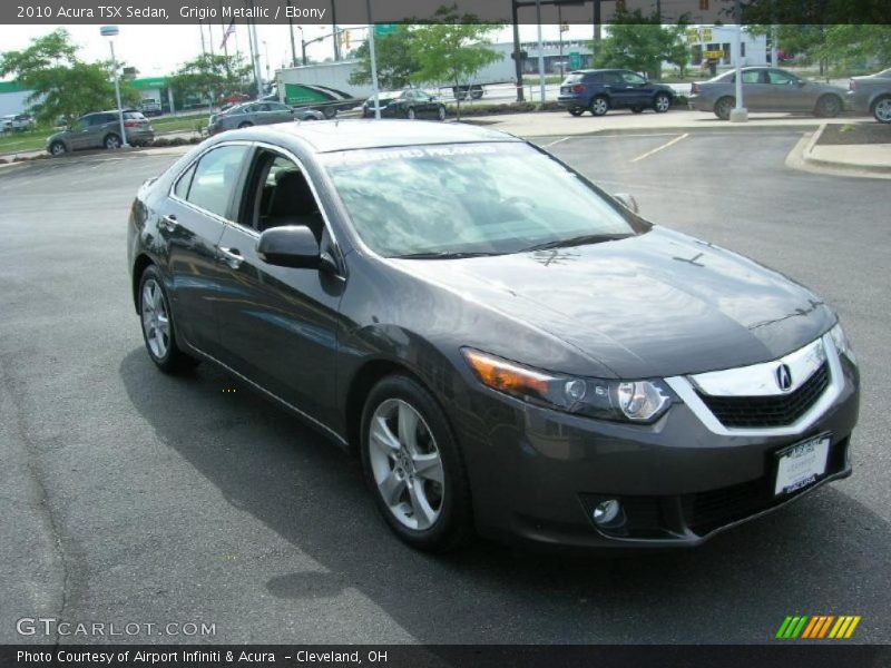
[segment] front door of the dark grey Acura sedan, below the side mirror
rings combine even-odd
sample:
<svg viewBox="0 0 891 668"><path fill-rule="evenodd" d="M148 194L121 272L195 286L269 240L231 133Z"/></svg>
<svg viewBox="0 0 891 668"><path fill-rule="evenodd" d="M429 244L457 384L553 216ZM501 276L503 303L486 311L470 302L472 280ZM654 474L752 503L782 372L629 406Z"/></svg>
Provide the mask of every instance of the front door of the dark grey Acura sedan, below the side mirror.
<svg viewBox="0 0 891 668"><path fill-rule="evenodd" d="M216 301L221 360L323 423L333 423L337 323L343 279L320 269L273 266L256 252L261 230L307 224L330 239L309 177L292 157L258 148L239 223L218 245L225 264ZM272 187L272 196L264 191Z"/></svg>

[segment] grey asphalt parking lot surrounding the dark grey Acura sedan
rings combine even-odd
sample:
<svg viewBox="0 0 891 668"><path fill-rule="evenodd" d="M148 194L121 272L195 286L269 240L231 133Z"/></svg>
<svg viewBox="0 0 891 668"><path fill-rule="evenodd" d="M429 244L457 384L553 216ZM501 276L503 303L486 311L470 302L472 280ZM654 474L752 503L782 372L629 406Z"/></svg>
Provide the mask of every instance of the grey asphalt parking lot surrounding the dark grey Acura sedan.
<svg viewBox="0 0 891 668"><path fill-rule="evenodd" d="M853 478L645 556L411 551L358 462L208 364L153 367L125 225L174 156L0 168L0 642L57 640L17 633L42 616L215 625L123 638L167 642L746 644L824 613L891 641L888 184L785 168L800 137L536 139L652 220L814 288L861 362Z"/></svg>

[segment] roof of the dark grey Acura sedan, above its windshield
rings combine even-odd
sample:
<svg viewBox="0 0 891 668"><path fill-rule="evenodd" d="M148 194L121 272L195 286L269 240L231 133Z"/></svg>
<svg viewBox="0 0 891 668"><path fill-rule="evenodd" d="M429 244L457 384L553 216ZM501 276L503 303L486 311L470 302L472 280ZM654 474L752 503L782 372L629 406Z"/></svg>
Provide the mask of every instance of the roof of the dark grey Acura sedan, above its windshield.
<svg viewBox="0 0 891 668"><path fill-rule="evenodd" d="M294 137L302 139L315 153L428 144L520 141L512 135L471 125L390 119L285 122L226 132L226 137L232 139L236 138L236 135L247 135L251 138L261 136L271 143L281 143L283 139Z"/></svg>

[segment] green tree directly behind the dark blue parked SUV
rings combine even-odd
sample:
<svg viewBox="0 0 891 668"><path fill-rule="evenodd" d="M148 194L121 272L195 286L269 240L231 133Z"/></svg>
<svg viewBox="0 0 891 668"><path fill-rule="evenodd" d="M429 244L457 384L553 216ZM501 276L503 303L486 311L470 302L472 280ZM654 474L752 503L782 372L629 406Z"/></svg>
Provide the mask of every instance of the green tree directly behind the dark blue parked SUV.
<svg viewBox="0 0 891 668"><path fill-rule="evenodd" d="M609 35L594 42L596 67L616 67L646 72L653 79L662 77L662 63L668 61L681 68L689 62L689 48L684 38L684 23L663 27L658 18L645 17L638 9L620 12L610 26Z"/></svg>

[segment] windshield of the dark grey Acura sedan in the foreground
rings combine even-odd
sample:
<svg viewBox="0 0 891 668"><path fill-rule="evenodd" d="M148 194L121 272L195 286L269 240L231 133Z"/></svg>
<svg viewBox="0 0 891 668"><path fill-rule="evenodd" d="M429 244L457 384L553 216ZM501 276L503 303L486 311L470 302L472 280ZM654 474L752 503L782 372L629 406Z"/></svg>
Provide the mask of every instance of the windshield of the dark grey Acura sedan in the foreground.
<svg viewBox="0 0 891 668"><path fill-rule="evenodd" d="M322 159L356 233L386 257L500 255L636 234L616 205L519 141Z"/></svg>

